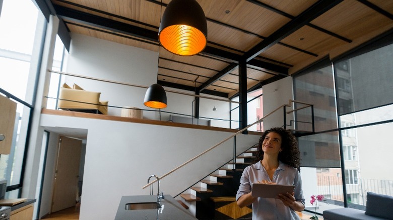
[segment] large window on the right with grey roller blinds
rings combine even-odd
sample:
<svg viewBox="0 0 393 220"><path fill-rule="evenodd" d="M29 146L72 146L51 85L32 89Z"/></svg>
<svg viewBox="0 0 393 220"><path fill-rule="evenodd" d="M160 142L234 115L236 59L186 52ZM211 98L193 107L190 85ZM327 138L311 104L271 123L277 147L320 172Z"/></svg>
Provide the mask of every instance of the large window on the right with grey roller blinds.
<svg viewBox="0 0 393 220"><path fill-rule="evenodd" d="M294 76L295 99L314 104L317 134L298 143L305 198L328 198L329 205L319 203L319 213L345 203L364 210L367 192L393 195L393 174L383 169L393 166L391 60L388 45L335 62L333 72L326 65ZM296 120L307 115L297 113Z"/></svg>

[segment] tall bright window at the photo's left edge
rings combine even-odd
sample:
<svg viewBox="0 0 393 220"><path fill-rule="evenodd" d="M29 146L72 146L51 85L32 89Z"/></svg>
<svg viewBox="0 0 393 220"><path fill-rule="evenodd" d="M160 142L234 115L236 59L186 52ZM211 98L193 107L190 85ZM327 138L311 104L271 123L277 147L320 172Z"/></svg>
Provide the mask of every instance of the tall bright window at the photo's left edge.
<svg viewBox="0 0 393 220"><path fill-rule="evenodd" d="M0 95L17 102L17 117L11 153L0 155L0 179L7 180L6 198L18 198L39 66L33 54L39 54L46 21L31 0L4 0L1 10Z"/></svg>

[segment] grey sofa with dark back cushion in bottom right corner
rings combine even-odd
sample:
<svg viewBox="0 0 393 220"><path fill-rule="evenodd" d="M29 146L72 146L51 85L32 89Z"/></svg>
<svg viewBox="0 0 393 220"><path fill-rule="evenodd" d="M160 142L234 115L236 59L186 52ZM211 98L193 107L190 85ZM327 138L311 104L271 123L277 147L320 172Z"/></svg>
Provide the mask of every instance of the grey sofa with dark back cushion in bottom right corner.
<svg viewBox="0 0 393 220"><path fill-rule="evenodd" d="M393 196L367 192L366 210L336 208L323 211L324 220L393 219Z"/></svg>

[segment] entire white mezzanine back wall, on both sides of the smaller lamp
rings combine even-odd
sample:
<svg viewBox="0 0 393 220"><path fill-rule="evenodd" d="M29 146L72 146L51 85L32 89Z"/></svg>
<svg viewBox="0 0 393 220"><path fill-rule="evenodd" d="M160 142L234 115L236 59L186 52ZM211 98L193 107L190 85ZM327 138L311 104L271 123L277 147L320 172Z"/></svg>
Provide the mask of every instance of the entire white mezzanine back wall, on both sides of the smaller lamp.
<svg viewBox="0 0 393 220"><path fill-rule="evenodd" d="M98 79L150 86L157 83L157 58L158 53L154 51L73 34L67 68L64 71ZM65 82L70 86L76 83L85 90L101 92L100 100L108 100L108 105L118 107L134 106L146 110L154 110L143 104L146 88L70 76L65 77ZM164 89L167 90L168 107L162 109L161 121L167 121L169 115L174 115L173 113L192 115L192 101L194 97L170 91L180 91L189 94L194 94L194 92L167 87L164 87ZM201 95L209 96L206 94ZM219 111L213 112L211 109L214 101L201 98L200 115L229 119L229 103L222 101L216 101L216 103L220 105L218 107ZM120 116L120 112L120 108L108 108L108 115ZM145 119L158 120L157 112L144 111L143 115ZM212 123L212 126L229 128L229 123L215 121Z"/></svg>

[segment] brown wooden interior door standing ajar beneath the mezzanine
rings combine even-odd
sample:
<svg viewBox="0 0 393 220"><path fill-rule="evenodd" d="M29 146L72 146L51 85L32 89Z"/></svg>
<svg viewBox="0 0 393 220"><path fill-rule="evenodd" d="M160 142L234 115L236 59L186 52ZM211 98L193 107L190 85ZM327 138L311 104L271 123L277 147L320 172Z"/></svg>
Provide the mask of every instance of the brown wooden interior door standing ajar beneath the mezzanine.
<svg viewBox="0 0 393 220"><path fill-rule="evenodd" d="M60 137L51 212L75 206L82 141Z"/></svg>

